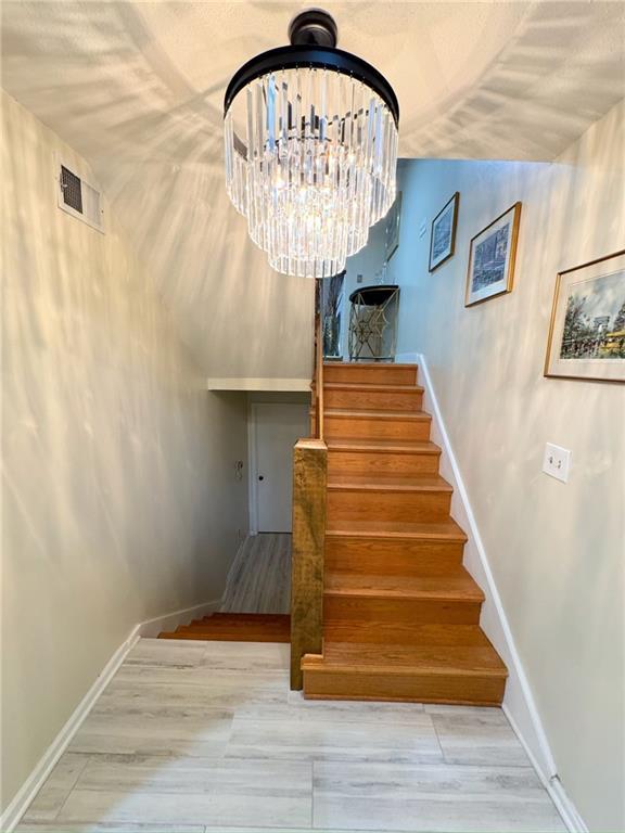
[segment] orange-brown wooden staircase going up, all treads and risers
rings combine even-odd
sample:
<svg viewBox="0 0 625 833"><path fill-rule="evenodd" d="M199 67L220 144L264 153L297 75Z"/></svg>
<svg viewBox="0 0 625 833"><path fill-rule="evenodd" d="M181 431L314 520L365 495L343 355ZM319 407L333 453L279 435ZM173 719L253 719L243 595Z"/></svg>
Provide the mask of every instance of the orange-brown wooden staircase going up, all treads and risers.
<svg viewBox="0 0 625 833"><path fill-rule="evenodd" d="M323 653L302 659L306 697L502 700L422 398L414 364L324 364Z"/></svg>

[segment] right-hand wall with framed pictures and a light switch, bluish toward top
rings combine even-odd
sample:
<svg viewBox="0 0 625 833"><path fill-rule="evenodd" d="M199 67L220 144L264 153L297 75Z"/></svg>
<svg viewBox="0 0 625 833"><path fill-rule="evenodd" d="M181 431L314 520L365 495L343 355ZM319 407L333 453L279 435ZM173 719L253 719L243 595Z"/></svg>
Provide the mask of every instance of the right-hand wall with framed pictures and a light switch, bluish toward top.
<svg viewBox="0 0 625 833"><path fill-rule="evenodd" d="M426 357L560 778L591 830L625 826L625 386L544 379L543 364L558 270L625 245L624 114L552 165L403 163L390 268L398 351ZM455 191L456 255L429 274L430 222ZM514 290L465 309L469 241L516 200ZM572 449L567 485L541 474L546 441Z"/></svg>

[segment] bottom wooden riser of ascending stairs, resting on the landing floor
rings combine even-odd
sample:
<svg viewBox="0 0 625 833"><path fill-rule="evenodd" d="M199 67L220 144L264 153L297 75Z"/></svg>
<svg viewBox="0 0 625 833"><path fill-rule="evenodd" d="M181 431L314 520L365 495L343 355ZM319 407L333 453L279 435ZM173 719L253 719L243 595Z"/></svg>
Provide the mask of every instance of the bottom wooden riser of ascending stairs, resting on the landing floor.
<svg viewBox="0 0 625 833"><path fill-rule="evenodd" d="M505 687L505 679L488 676L304 671L304 696L311 699L494 706L501 703Z"/></svg>

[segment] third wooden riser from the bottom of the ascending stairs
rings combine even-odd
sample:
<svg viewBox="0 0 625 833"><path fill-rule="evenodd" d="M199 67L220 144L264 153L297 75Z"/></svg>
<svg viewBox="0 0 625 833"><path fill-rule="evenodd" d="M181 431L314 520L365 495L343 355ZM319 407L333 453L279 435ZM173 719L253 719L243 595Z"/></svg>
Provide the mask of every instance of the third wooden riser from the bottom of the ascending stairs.
<svg viewBox="0 0 625 833"><path fill-rule="evenodd" d="M326 538L328 571L357 575L439 576L462 563L462 542Z"/></svg>

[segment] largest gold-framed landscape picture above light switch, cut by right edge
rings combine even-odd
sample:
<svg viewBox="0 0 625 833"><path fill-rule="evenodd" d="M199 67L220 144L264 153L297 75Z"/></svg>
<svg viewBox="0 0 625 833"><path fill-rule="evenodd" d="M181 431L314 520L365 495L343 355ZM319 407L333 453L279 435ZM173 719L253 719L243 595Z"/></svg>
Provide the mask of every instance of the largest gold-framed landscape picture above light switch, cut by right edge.
<svg viewBox="0 0 625 833"><path fill-rule="evenodd" d="M545 375L625 382L625 249L558 275Z"/></svg>

